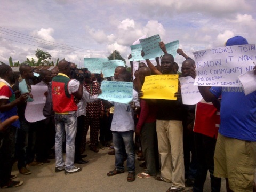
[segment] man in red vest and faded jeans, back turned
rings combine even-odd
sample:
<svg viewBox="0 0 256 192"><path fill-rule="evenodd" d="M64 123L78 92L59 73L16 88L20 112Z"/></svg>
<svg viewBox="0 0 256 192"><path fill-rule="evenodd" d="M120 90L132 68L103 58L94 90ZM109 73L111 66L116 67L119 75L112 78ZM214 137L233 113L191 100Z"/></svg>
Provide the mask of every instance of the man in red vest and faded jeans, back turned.
<svg viewBox="0 0 256 192"><path fill-rule="evenodd" d="M83 95L83 82L70 79L70 62L62 60L58 63L59 74L52 79L52 103L55 112L55 172L65 169L65 174L81 171L74 166L75 137L77 131L77 105ZM62 156L62 140L66 132L66 161Z"/></svg>

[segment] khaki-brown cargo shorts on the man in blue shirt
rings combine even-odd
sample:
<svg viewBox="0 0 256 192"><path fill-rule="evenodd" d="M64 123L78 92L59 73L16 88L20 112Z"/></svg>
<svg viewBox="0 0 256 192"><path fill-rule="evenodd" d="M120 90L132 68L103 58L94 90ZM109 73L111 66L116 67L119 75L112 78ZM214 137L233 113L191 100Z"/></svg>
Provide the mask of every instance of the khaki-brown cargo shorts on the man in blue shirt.
<svg viewBox="0 0 256 192"><path fill-rule="evenodd" d="M252 191L256 168L256 142L228 138L220 133L214 154L214 176L228 178L233 191Z"/></svg>

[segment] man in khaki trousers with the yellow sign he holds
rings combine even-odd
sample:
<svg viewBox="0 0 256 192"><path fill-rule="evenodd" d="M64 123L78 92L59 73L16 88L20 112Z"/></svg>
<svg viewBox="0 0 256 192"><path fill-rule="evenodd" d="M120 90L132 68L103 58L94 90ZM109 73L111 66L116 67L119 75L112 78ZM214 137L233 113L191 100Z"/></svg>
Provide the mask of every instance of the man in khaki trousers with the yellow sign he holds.
<svg viewBox="0 0 256 192"><path fill-rule="evenodd" d="M163 55L163 75L148 76L139 95L141 99L156 99L158 108L156 131L162 167L161 176L155 179L172 182L167 191L182 191L185 189L182 99L180 90L177 92L178 75L174 73L173 65L173 56Z"/></svg>

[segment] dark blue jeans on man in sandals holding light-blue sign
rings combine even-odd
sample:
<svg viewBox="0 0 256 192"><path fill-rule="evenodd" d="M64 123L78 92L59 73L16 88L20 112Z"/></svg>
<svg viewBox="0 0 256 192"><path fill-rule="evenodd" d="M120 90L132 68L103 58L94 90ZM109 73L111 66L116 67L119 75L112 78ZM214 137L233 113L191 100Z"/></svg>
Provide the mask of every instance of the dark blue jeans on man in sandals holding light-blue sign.
<svg viewBox="0 0 256 192"><path fill-rule="evenodd" d="M134 151L134 142L133 142L133 130L130 131L113 131L113 145L115 149L115 157L116 162L115 166L116 169L119 171L124 170L124 150L122 149L122 146L124 144L125 150L127 153L127 169L128 172L134 172L135 171L135 151Z"/></svg>

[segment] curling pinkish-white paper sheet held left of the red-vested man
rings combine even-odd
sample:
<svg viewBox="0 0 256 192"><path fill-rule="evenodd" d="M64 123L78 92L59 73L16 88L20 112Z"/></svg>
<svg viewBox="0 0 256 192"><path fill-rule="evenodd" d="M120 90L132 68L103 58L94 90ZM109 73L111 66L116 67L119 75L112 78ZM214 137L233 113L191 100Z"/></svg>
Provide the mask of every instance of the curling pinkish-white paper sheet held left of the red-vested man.
<svg viewBox="0 0 256 192"><path fill-rule="evenodd" d="M46 102L44 92L46 92L47 90L47 86L31 86L30 93L33 95L34 100L32 102L27 102L25 118L28 122L33 123L46 119L46 117L43 115L43 109Z"/></svg>

